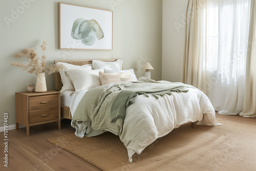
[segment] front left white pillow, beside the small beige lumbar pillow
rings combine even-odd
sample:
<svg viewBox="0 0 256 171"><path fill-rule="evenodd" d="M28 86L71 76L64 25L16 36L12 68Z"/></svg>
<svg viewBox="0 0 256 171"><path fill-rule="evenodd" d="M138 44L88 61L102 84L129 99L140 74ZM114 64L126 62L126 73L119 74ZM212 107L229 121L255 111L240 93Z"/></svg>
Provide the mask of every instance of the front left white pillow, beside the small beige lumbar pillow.
<svg viewBox="0 0 256 171"><path fill-rule="evenodd" d="M74 84L75 91L89 90L95 87L101 86L99 72L103 72L103 69L98 70L67 70L71 81Z"/></svg>

